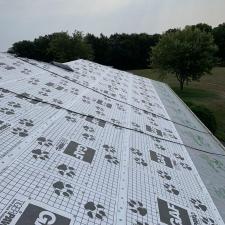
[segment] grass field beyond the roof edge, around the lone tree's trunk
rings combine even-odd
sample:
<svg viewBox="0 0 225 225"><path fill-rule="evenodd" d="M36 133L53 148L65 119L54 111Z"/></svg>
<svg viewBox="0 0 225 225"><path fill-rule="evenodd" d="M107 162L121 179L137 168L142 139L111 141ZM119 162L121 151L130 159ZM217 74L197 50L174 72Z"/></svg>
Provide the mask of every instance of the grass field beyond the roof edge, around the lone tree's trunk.
<svg viewBox="0 0 225 225"><path fill-rule="evenodd" d="M225 67L214 68L211 75L203 76L200 82L191 82L184 87L183 91L179 90L179 83L173 75L168 75L162 79L151 69L130 72L165 82L183 100L206 106L216 117L218 128L215 136L225 142Z"/></svg>

